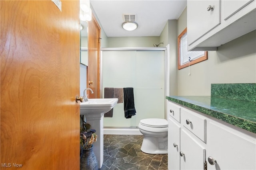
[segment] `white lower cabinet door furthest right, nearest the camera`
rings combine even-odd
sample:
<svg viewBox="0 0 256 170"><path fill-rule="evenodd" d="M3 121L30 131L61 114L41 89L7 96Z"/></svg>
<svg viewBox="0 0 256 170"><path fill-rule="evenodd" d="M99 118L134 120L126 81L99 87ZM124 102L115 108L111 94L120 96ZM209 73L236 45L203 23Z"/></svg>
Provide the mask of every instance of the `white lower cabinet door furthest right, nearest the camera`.
<svg viewBox="0 0 256 170"><path fill-rule="evenodd" d="M255 136L238 133L218 122L208 124L207 155L216 159L208 170L255 170L256 143Z"/></svg>

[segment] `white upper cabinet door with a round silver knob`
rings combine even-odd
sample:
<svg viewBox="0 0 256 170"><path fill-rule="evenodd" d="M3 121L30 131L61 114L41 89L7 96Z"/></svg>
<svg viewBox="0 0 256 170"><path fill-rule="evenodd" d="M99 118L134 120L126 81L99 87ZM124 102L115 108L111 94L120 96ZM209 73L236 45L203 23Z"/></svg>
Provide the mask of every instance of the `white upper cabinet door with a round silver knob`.
<svg viewBox="0 0 256 170"><path fill-rule="evenodd" d="M212 10L208 11L208 6ZM220 0L187 1L188 45L220 24Z"/></svg>

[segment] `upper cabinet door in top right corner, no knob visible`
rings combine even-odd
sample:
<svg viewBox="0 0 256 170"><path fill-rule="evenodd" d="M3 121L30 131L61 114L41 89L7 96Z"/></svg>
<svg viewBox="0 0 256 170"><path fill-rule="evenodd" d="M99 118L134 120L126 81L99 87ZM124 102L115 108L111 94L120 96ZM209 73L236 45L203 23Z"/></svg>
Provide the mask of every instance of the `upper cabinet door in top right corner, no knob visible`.
<svg viewBox="0 0 256 170"><path fill-rule="evenodd" d="M222 0L222 20L228 20L252 1L254 0Z"/></svg>

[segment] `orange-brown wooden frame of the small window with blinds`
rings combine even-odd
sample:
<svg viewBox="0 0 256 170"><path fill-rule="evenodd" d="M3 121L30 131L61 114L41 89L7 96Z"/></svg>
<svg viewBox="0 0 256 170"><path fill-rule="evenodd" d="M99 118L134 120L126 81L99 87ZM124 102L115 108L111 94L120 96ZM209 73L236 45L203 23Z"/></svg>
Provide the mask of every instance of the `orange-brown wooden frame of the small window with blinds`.
<svg viewBox="0 0 256 170"><path fill-rule="evenodd" d="M187 67L188 65L193 65L196 63L199 63L201 61L205 61L208 59L208 51L204 51L204 55L202 57L199 57L195 60L190 61L189 63L185 63L183 65L180 65L180 39L182 38L182 36L187 32L187 28L184 29L184 31L182 31L182 33L180 33L180 35L178 36L178 70Z"/></svg>

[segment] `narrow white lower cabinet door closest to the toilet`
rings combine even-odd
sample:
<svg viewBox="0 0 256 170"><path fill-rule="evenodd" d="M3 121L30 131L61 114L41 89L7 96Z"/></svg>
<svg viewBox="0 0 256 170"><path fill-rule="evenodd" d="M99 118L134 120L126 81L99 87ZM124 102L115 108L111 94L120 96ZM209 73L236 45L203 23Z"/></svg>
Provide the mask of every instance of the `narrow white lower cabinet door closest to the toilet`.
<svg viewBox="0 0 256 170"><path fill-rule="evenodd" d="M168 169L180 170L180 124L168 118Z"/></svg>

